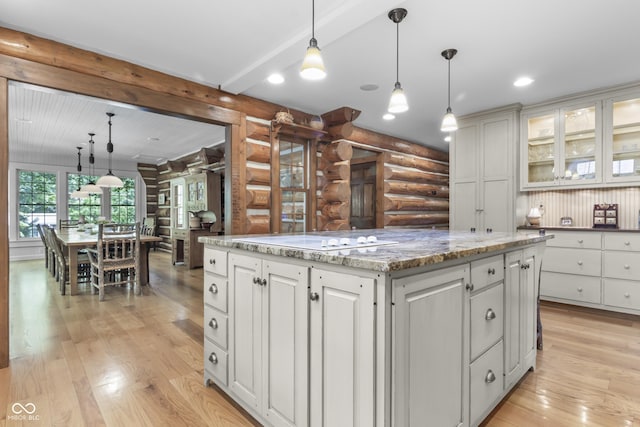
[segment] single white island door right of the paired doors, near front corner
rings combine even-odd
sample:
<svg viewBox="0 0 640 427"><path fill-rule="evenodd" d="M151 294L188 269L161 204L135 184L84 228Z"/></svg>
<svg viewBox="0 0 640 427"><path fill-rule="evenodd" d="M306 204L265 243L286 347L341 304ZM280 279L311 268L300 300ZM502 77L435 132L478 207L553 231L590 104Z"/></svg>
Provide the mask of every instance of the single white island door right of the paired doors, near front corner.
<svg viewBox="0 0 640 427"><path fill-rule="evenodd" d="M311 271L311 426L375 425L375 280Z"/></svg>

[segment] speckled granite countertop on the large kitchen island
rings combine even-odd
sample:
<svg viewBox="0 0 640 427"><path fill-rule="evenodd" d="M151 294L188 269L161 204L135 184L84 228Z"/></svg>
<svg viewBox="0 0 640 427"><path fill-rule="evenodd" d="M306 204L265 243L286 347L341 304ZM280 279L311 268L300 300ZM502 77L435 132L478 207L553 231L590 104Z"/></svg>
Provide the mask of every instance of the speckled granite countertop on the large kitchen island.
<svg viewBox="0 0 640 427"><path fill-rule="evenodd" d="M273 244L242 241L243 239L275 236L288 238L293 235L246 235L246 236L206 236L199 237L201 243L243 249L251 252L292 257L328 264L372 271L391 272L408 268L432 265L468 256L517 248L553 238L535 233L470 233L447 230L425 229L374 229L355 231L331 231L302 233L295 236L315 239L356 239L375 235L379 241L394 242L381 246L358 247L355 249L313 250L297 249ZM321 237L318 237L321 236Z"/></svg>

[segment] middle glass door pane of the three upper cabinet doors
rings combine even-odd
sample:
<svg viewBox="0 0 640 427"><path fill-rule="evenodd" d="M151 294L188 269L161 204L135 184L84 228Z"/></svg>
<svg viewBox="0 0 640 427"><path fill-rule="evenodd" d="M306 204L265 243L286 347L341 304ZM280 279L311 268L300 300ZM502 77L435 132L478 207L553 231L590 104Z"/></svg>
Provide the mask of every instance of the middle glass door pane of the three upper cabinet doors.
<svg viewBox="0 0 640 427"><path fill-rule="evenodd" d="M596 177L596 107L564 112L564 179Z"/></svg>

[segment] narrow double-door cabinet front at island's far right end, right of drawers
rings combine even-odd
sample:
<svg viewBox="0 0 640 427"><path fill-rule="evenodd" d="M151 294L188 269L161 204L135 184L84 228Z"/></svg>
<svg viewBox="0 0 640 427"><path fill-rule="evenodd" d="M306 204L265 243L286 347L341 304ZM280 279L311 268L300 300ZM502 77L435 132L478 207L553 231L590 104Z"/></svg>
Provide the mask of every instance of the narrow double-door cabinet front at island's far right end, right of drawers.
<svg viewBox="0 0 640 427"><path fill-rule="evenodd" d="M512 387L526 369L535 367L538 307L536 250L505 257L505 387ZM548 259L548 255L547 255Z"/></svg>

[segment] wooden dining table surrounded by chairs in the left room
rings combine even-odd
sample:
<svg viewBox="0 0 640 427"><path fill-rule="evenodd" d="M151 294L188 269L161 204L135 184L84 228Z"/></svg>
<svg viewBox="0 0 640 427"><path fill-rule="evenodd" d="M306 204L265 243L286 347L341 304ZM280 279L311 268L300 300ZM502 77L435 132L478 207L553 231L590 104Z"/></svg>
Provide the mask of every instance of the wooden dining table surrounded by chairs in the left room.
<svg viewBox="0 0 640 427"><path fill-rule="evenodd" d="M95 248L98 235L88 230L77 228L56 229L55 235L62 243L69 260L69 285L71 295L78 293L78 251ZM149 247L154 242L161 242L158 236L140 235L140 285L149 285ZM136 273L138 274L138 273Z"/></svg>

